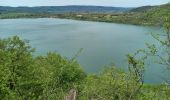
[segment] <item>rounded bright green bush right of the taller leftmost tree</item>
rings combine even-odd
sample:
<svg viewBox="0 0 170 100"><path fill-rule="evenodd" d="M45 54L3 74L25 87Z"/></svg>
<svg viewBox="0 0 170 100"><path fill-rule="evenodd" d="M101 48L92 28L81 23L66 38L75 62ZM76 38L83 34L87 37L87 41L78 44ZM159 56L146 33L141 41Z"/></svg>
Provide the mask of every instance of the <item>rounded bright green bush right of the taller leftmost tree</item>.
<svg viewBox="0 0 170 100"><path fill-rule="evenodd" d="M43 98L63 98L66 93L86 77L81 66L73 59L67 59L57 53L35 58L37 80L43 87Z"/></svg>

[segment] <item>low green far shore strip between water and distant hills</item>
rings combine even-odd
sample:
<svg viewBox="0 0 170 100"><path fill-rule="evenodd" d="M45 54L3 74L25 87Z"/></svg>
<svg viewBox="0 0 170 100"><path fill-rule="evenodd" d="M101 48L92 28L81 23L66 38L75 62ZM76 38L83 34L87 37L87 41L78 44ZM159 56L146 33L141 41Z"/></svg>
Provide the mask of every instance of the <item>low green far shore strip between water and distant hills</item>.
<svg viewBox="0 0 170 100"><path fill-rule="evenodd" d="M158 26L154 23L142 23L139 21L134 21L136 19L127 19L128 17L121 18L122 15L118 15L116 18L105 19L105 16L115 16L114 14L85 14L81 17L79 14L32 14L32 13L5 13L0 14L0 19L19 19L19 18L59 18L59 19L71 19L79 21L92 21L92 22L105 22L105 23L117 23L117 24L129 24L129 25L139 25L139 26ZM77 17L78 16L78 17ZM94 17L95 16L95 17ZM101 17L102 16L102 17ZM103 17L104 16L104 17Z"/></svg>

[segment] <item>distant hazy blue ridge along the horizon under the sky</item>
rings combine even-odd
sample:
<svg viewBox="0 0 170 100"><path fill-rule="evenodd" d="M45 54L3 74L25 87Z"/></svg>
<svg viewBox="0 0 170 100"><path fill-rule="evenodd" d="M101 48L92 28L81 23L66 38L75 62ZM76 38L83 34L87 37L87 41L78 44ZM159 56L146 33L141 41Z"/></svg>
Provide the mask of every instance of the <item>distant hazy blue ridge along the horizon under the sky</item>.
<svg viewBox="0 0 170 100"><path fill-rule="evenodd" d="M131 8L104 6L39 6L39 7L7 7L0 6L1 13L117 13L129 11Z"/></svg>

